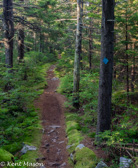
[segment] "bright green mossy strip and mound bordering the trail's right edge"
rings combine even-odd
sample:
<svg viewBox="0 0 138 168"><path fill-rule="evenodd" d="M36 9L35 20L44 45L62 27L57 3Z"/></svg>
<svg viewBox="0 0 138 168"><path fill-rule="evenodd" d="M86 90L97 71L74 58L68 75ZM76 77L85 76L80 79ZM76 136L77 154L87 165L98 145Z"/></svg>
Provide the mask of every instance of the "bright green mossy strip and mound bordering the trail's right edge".
<svg viewBox="0 0 138 168"><path fill-rule="evenodd" d="M76 148L84 139L80 132L80 125L77 123L77 114L66 114L66 133L68 136L68 145L71 145L68 152L74 153L73 160L69 158L70 165L74 168L95 168L97 157L95 153L87 147L82 149Z"/></svg>

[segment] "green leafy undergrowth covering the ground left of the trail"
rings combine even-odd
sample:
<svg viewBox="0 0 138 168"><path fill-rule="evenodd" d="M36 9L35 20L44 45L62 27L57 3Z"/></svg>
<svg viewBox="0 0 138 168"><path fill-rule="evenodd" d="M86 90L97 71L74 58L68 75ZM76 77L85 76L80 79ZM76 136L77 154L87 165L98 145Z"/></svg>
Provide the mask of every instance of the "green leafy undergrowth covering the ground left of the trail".
<svg viewBox="0 0 138 168"><path fill-rule="evenodd" d="M37 149L40 145L42 128L34 100L47 86L45 76L49 67L50 64L42 64L31 53L12 73L0 67L0 150L13 154L15 162L36 162L38 150L22 156L19 151L23 143ZM0 155L1 161L7 161L2 157Z"/></svg>

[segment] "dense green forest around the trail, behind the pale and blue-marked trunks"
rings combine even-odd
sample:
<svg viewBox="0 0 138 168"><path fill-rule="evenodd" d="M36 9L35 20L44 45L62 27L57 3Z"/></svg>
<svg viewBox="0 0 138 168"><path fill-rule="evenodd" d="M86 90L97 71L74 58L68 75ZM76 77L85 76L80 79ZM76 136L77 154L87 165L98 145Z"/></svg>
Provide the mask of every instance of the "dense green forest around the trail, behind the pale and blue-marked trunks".
<svg viewBox="0 0 138 168"><path fill-rule="evenodd" d="M79 130L95 139L102 2L87 0L80 5L78 108L72 106L77 1L0 0L0 153L15 155L23 142L34 141L39 146L41 125L34 100L47 86L45 72L52 64L56 64L55 74L60 78L57 91L68 100L65 106L75 113ZM106 147L115 159L114 167L118 163L116 146L123 146L124 155L134 162L138 152L137 6L136 0L116 0L115 18L108 20L114 23L111 125L98 133L95 143Z"/></svg>

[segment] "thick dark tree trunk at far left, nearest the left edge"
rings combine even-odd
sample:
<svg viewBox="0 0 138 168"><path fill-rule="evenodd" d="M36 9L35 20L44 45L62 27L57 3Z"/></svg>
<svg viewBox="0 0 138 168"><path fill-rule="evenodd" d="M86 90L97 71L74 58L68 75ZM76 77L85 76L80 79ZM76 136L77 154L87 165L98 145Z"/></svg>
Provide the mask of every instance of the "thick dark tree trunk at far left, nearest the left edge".
<svg viewBox="0 0 138 168"><path fill-rule="evenodd" d="M4 45L5 45L5 63L7 68L13 67L13 1L3 0L3 28L4 28Z"/></svg>

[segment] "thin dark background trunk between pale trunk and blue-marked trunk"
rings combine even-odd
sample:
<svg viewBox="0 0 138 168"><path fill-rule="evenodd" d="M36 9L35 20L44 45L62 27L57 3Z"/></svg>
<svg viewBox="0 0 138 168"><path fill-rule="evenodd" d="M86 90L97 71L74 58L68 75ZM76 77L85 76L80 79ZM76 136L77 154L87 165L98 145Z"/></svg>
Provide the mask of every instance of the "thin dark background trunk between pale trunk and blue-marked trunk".
<svg viewBox="0 0 138 168"><path fill-rule="evenodd" d="M90 18L90 29L89 29L89 68L92 68L92 18Z"/></svg>

